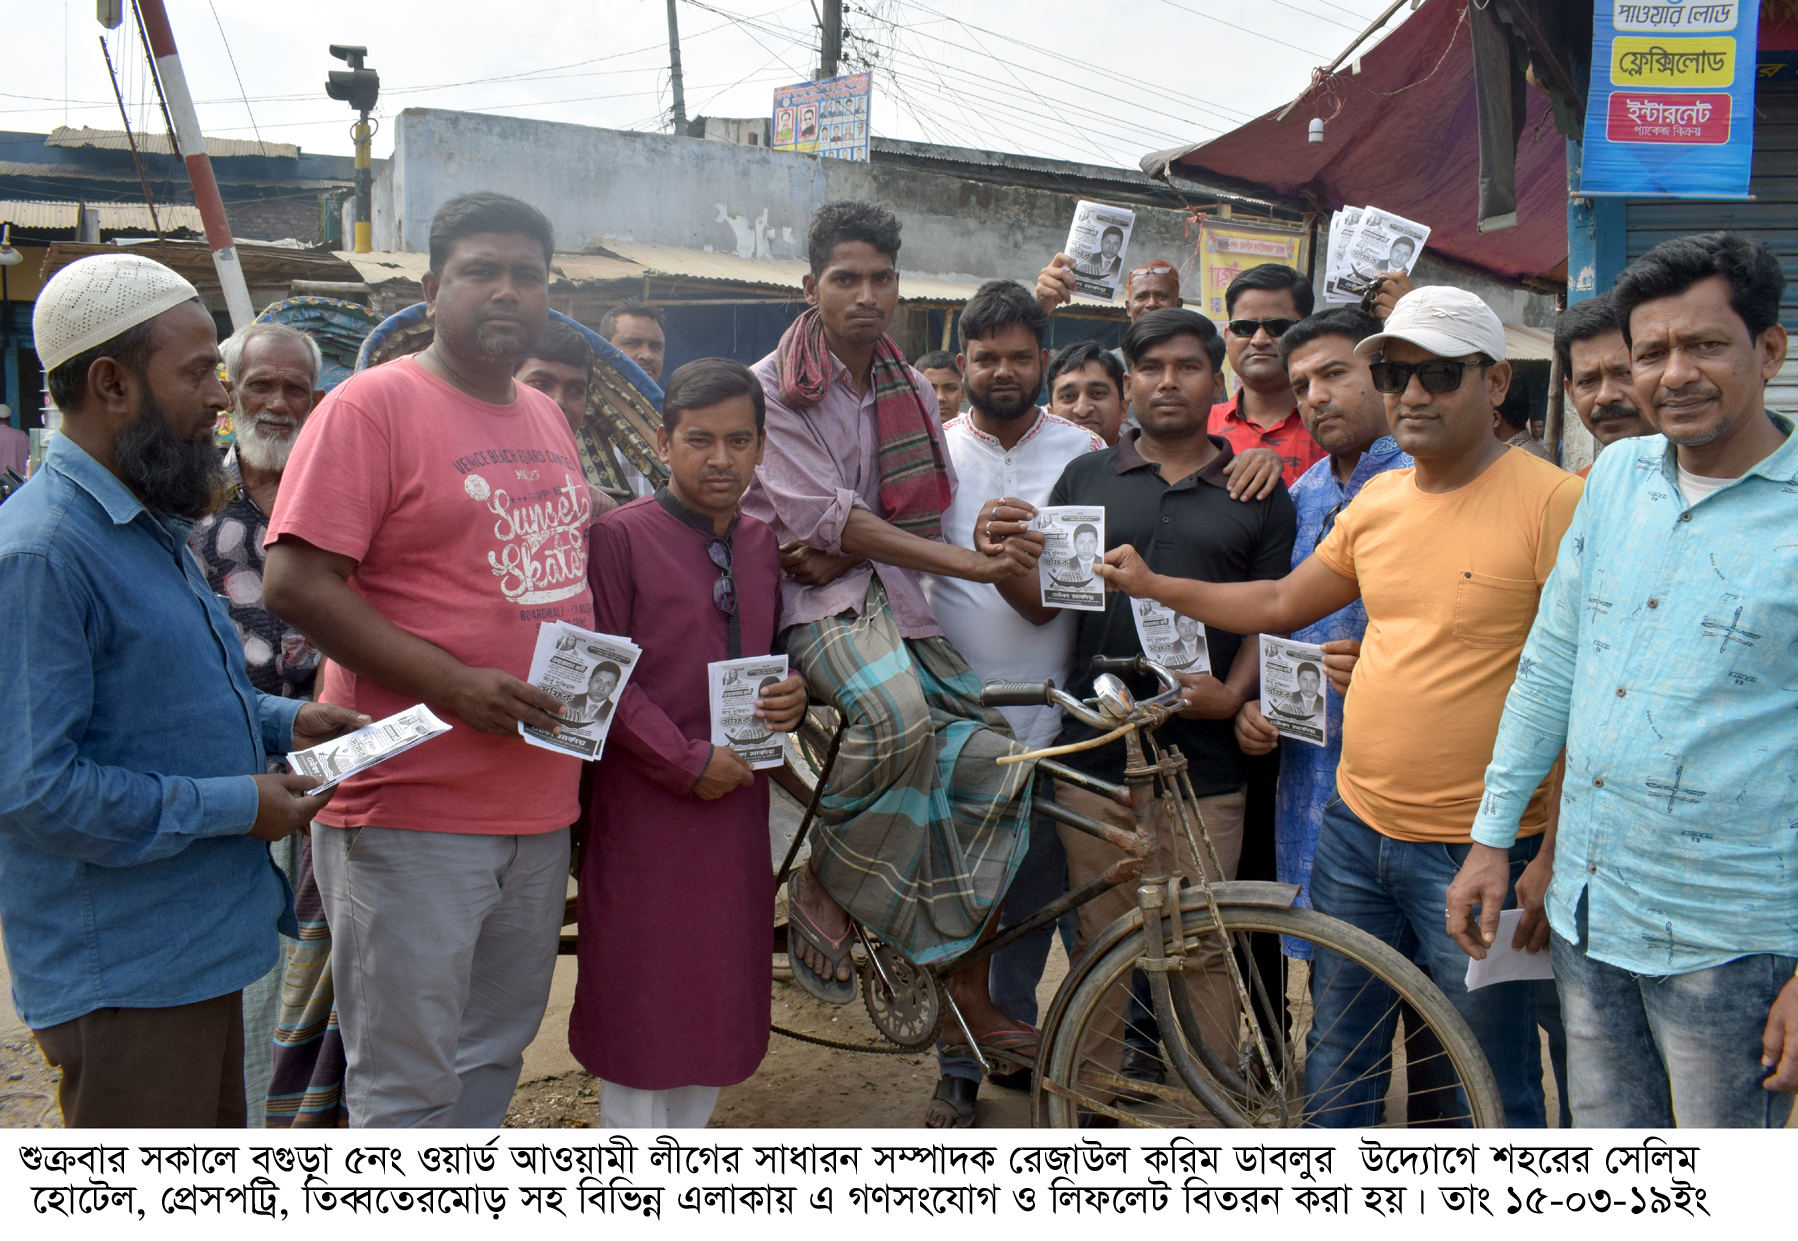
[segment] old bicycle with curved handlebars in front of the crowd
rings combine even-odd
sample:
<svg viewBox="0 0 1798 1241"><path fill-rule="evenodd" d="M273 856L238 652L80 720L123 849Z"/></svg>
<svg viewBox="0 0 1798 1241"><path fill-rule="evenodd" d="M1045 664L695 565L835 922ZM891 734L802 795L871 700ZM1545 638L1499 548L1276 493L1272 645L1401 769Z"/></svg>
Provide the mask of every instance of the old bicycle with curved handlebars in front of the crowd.
<svg viewBox="0 0 1798 1241"><path fill-rule="evenodd" d="M1503 1106L1492 1070L1467 1023L1411 960L1390 944L1327 917L1296 908L1298 887L1268 881L1219 881L1223 867L1212 845L1197 797L1178 746L1160 746L1154 734L1181 707L1174 673L1147 656L1093 660L1095 696L1073 698L1054 682L987 683L989 707L1059 705L1100 736L1068 746L1010 755L1036 763L1037 779L1073 784L1135 815L1135 831L1122 831L1063 806L1037 799L1037 813L1057 824L1117 845L1122 858L1079 888L1050 901L1021 923L980 944L978 953L921 968L877 935L856 924L859 989L874 1027L895 1049L922 1050L948 1027L966 1040L982 1068L994 1061L1034 1068L1032 1120L1037 1126L1075 1128L1104 1117L1131 1126L1286 1128L1329 1124L1363 1115L1384 1103L1384 1124L1503 1126ZM1154 678L1163 691L1136 701L1118 674ZM786 879L800 844L816 817L822 790L834 764L836 741L814 718L789 748L816 772L811 781L784 781L807 804L786 862L775 876ZM1090 777L1055 759L1122 741L1126 782ZM791 775L791 773L789 773ZM1203 858L1199 883L1187 887L1176 862L1178 842ZM1037 1059L982 1049L944 986L949 977L991 951L1055 923L1068 910L1124 885L1136 883L1136 908L1097 935L1055 993L1043 1022ZM1257 953L1264 937L1278 937L1289 951ZM1311 960L1291 955L1311 946ZM1318 953L1323 950L1323 955ZM1278 960L1273 978L1257 960ZM1327 962L1318 966L1314 962ZM1323 971L1320 975L1320 969ZM1181 977L1176 986L1172 975ZM1154 1031L1131 1018L1135 980L1147 980ZM1192 984L1197 977L1201 984ZM1322 986L1354 986L1340 1011L1356 1011L1363 1036L1343 1058L1343 1072L1305 1086L1305 1059L1332 1031L1313 1029L1313 996ZM1172 1070L1163 1081L1124 1076L1126 1034L1136 1032ZM1372 1038L1372 1041L1368 1041ZM1099 1120L1104 1124L1106 1120Z"/></svg>

